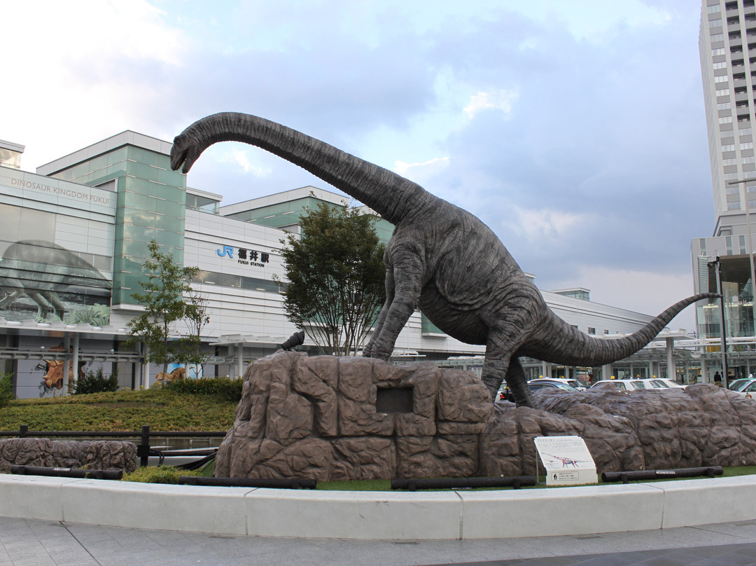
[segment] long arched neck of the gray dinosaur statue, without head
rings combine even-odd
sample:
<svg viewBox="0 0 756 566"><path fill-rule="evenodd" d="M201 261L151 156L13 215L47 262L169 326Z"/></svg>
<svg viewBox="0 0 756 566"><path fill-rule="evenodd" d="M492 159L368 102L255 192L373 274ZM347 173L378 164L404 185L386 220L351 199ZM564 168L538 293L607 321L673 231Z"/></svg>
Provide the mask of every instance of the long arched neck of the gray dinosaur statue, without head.
<svg viewBox="0 0 756 566"><path fill-rule="evenodd" d="M355 197L392 224L436 198L388 169L251 114L212 114L192 124L187 132L203 150L218 142L243 142L270 151Z"/></svg>

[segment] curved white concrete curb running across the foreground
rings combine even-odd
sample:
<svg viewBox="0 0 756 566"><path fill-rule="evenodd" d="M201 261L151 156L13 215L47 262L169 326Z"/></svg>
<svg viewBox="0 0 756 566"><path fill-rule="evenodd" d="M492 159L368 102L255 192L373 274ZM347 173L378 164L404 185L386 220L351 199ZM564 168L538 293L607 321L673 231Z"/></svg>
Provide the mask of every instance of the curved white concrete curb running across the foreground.
<svg viewBox="0 0 756 566"><path fill-rule="evenodd" d="M341 492L0 474L0 516L251 536L549 536L756 519L756 476L549 490Z"/></svg>

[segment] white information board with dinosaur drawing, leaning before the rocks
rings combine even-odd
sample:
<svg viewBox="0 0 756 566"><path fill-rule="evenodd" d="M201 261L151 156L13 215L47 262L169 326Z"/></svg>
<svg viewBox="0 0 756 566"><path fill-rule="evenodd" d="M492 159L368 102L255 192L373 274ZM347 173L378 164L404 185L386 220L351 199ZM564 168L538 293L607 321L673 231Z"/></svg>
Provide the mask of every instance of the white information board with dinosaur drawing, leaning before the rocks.
<svg viewBox="0 0 756 566"><path fill-rule="evenodd" d="M546 485L598 484L596 464L581 437L535 437Z"/></svg>

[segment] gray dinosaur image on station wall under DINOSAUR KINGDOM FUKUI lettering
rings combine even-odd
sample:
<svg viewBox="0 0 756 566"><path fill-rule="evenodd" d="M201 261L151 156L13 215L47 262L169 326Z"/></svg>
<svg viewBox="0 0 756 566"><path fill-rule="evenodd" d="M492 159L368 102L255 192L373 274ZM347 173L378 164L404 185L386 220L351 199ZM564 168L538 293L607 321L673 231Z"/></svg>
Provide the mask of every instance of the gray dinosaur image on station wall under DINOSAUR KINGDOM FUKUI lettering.
<svg viewBox="0 0 756 566"><path fill-rule="evenodd" d="M66 308L58 297L70 285L110 289L108 281L95 266L52 242L25 240L11 244L0 259L0 309L26 295L37 304L37 315L44 319L55 313L63 320Z"/></svg>

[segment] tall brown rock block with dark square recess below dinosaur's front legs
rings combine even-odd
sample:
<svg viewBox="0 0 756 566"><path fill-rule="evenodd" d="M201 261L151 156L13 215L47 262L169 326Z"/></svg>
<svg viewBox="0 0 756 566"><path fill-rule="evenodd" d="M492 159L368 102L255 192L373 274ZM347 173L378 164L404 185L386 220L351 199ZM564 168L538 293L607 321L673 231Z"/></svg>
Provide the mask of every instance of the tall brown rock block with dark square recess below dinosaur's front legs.
<svg viewBox="0 0 756 566"><path fill-rule="evenodd" d="M467 477L493 411L471 372L280 352L249 365L218 477Z"/></svg>

